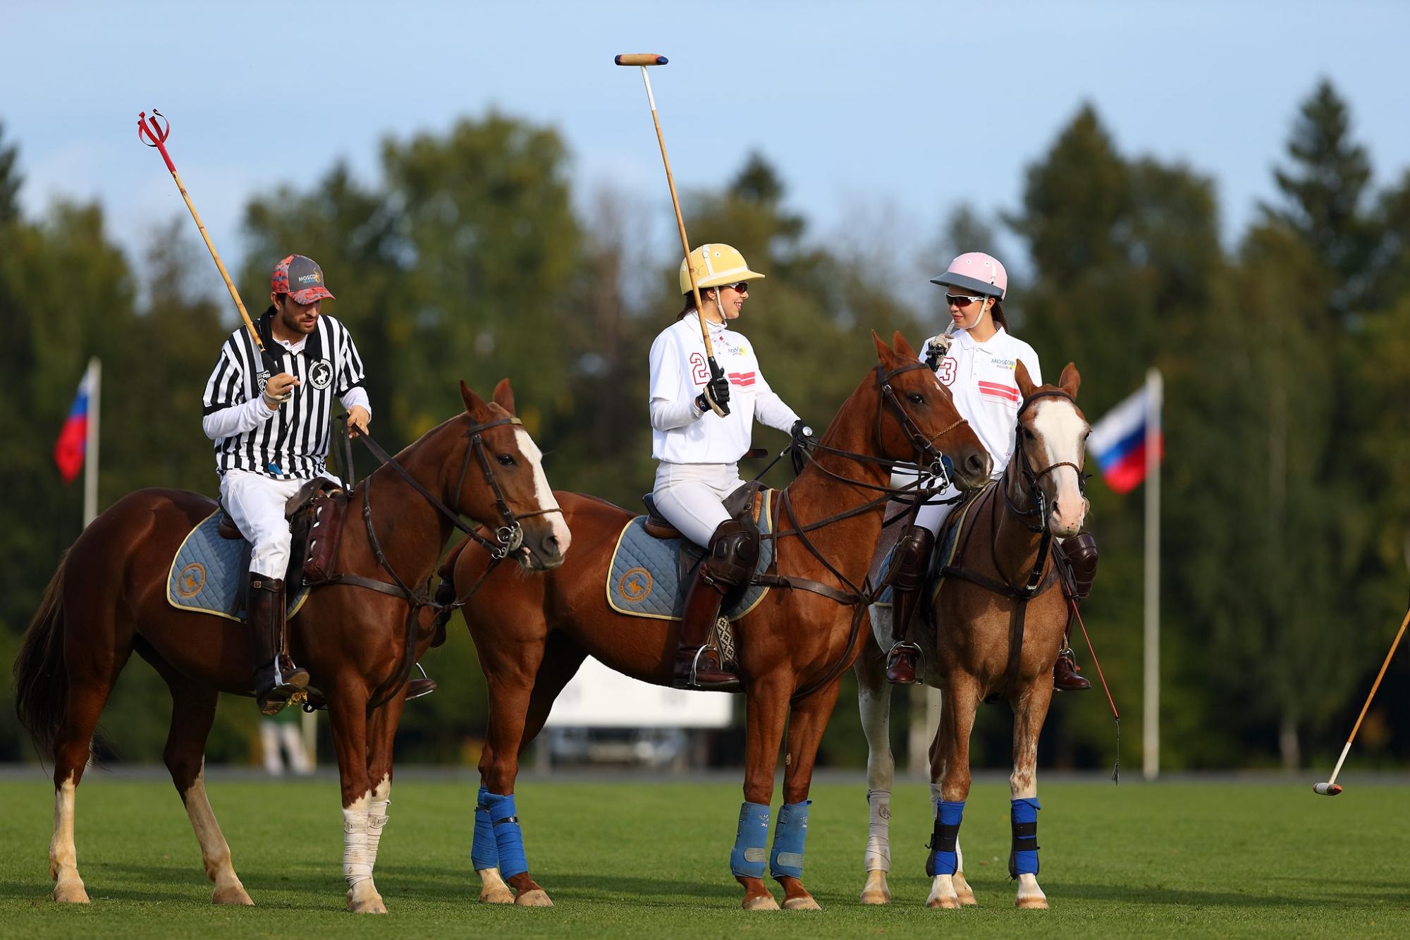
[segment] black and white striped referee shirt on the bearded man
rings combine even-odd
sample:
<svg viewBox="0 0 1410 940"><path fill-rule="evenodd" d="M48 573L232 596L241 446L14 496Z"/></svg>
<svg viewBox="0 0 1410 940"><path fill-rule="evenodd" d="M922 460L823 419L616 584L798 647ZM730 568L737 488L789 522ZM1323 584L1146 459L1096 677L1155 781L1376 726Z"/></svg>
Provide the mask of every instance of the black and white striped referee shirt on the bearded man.
<svg viewBox="0 0 1410 940"><path fill-rule="evenodd" d="M259 350L244 327L231 333L206 382L202 426L216 442L216 471L248 470L275 480L312 480L324 473L330 411L337 395L344 408L368 408L362 358L340 322L319 316L298 351L276 342L269 325L274 308L255 322L265 350L299 380L293 398L269 411L257 384L264 371Z"/></svg>

